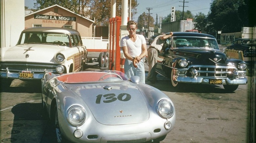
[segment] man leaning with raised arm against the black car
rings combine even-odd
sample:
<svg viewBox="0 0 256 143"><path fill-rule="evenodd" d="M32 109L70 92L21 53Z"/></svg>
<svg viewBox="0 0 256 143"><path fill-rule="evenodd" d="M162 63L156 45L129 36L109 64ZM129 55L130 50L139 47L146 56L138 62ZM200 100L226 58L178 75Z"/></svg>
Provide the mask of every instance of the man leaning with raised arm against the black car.
<svg viewBox="0 0 256 143"><path fill-rule="evenodd" d="M162 49L163 42L165 39L171 37L173 35L170 32L169 35L165 35L165 33L161 33L161 35L157 36L151 43L148 48L148 76L147 80L151 83L155 83L157 80L157 73L156 73L156 63L158 52Z"/></svg>

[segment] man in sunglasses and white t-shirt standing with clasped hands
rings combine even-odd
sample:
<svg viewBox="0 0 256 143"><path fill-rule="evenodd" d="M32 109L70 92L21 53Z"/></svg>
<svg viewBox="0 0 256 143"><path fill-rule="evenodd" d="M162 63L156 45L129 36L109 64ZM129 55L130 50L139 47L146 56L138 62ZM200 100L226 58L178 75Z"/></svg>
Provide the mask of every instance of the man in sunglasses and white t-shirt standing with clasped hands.
<svg viewBox="0 0 256 143"><path fill-rule="evenodd" d="M143 57L147 55L146 40L143 35L136 34L137 23L127 22L129 35L121 39L120 46L125 56L124 73L128 78L137 75L140 82L145 83L145 69Z"/></svg>

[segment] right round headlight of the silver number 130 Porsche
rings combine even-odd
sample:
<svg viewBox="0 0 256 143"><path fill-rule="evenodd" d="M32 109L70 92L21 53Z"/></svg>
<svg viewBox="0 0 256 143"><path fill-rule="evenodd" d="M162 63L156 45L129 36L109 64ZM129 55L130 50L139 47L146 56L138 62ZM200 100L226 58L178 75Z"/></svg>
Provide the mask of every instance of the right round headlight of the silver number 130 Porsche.
<svg viewBox="0 0 256 143"><path fill-rule="evenodd" d="M171 103L171 101L163 99L158 103L157 111L162 118L171 118L174 114L174 105Z"/></svg>

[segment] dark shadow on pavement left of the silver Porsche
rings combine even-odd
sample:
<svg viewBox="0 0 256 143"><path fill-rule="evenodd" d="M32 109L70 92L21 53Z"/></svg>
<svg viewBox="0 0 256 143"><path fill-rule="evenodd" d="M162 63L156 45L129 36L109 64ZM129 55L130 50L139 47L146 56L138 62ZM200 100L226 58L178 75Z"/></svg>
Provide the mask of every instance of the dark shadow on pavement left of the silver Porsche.
<svg viewBox="0 0 256 143"><path fill-rule="evenodd" d="M45 124L48 120L41 103L18 103L11 108L13 120L5 120L1 128L10 131L3 132L3 136L11 137L1 139L2 142L26 142L40 141ZM5 112L3 112L3 116ZM8 117L10 118L10 117ZM6 134L6 135L4 135Z"/></svg>

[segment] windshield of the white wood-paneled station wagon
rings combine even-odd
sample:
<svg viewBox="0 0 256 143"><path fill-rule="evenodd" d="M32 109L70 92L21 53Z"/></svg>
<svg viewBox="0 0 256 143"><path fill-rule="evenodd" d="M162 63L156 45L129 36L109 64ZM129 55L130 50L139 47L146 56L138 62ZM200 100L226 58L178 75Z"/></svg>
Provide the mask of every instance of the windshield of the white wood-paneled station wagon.
<svg viewBox="0 0 256 143"><path fill-rule="evenodd" d="M18 44L40 43L69 45L69 35L62 33L26 32L22 33Z"/></svg>

